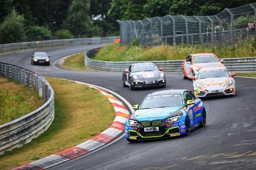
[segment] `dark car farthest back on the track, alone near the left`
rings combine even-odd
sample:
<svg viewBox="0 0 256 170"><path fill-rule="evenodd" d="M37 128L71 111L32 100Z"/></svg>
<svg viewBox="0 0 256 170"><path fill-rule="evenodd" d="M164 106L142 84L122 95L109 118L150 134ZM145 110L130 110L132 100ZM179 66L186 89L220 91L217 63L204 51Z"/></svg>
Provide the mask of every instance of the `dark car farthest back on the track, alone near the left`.
<svg viewBox="0 0 256 170"><path fill-rule="evenodd" d="M49 55L46 52L34 52L31 56L31 64L43 64L43 65L50 65Z"/></svg>

